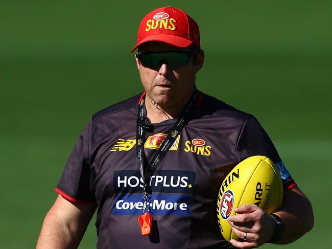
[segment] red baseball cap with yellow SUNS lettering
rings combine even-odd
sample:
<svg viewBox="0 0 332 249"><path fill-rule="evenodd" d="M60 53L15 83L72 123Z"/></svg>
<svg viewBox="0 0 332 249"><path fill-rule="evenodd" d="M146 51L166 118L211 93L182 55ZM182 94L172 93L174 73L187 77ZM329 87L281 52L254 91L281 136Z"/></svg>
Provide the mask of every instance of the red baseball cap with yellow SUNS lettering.
<svg viewBox="0 0 332 249"><path fill-rule="evenodd" d="M195 43L201 48L196 21L183 10L170 6L156 9L143 18L138 28L137 43L131 52L148 41L161 41L179 48Z"/></svg>

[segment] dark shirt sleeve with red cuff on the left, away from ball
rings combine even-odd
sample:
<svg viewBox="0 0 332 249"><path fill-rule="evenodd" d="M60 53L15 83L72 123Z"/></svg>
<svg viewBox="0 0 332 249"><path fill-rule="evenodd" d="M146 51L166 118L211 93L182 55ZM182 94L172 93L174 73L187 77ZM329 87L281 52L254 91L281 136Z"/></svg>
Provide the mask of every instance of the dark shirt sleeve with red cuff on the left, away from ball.
<svg viewBox="0 0 332 249"><path fill-rule="evenodd" d="M67 200L95 203L89 163L91 121L80 134L55 189Z"/></svg>

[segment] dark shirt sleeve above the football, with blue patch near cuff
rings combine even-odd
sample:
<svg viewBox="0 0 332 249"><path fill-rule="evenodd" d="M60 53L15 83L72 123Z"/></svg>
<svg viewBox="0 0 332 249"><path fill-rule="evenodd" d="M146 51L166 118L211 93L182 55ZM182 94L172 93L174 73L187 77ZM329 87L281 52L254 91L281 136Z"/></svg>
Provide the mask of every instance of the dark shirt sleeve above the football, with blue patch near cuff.
<svg viewBox="0 0 332 249"><path fill-rule="evenodd" d="M264 155L274 162L280 172L285 191L296 187L294 179L281 161L269 135L259 122L251 117L246 120L240 133L235 151L235 165L253 155Z"/></svg>

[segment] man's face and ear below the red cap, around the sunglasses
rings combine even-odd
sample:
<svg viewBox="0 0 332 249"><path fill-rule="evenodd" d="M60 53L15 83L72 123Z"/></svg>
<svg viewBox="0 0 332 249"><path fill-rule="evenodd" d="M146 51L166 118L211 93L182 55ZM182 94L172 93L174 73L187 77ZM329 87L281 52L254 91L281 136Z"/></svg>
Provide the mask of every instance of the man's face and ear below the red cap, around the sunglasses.
<svg viewBox="0 0 332 249"><path fill-rule="evenodd" d="M151 52L191 51L189 48L177 48L162 42L147 42L141 45L141 54ZM171 69L165 62L158 69L143 66L136 58L140 80L147 96L161 107L185 104L193 93L195 75L203 65L204 54L199 52L197 60Z"/></svg>

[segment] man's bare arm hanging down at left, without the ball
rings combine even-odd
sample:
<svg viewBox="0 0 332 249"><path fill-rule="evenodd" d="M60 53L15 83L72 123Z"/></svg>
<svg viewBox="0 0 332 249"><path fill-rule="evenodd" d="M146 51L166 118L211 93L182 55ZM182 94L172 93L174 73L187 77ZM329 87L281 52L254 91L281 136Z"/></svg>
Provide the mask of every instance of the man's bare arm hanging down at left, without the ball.
<svg viewBox="0 0 332 249"><path fill-rule="evenodd" d="M59 195L45 216L36 248L77 248L96 208Z"/></svg>

